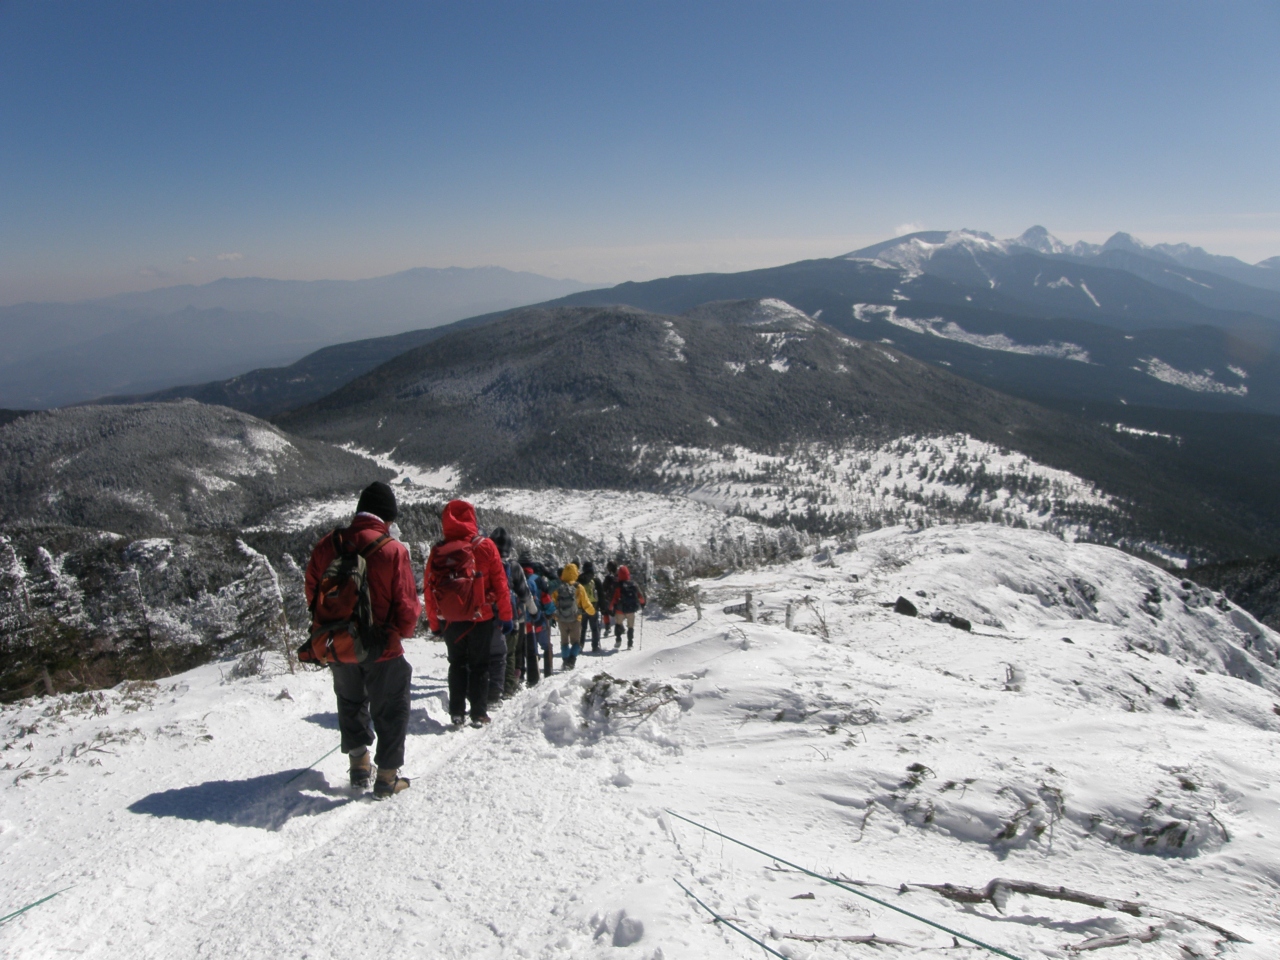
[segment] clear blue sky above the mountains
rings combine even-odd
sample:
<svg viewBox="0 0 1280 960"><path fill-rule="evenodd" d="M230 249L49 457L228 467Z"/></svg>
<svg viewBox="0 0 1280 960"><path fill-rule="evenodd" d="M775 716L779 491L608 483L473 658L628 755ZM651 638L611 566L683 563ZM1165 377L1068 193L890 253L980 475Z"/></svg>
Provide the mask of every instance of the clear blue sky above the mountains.
<svg viewBox="0 0 1280 960"><path fill-rule="evenodd" d="M0 303L899 228L1280 255L1276 3L0 0Z"/></svg>

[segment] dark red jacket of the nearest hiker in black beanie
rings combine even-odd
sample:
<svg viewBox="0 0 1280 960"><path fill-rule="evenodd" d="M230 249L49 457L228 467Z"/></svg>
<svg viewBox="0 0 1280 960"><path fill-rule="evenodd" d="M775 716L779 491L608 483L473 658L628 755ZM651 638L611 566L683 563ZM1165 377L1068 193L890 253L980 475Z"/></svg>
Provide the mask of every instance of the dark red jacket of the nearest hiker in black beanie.
<svg viewBox="0 0 1280 960"><path fill-rule="evenodd" d="M357 549L364 549L388 531L387 524L372 513L357 513L346 532L355 540ZM315 603L320 579L337 556L332 535L311 550L306 580L307 607ZM399 540L383 544L369 554L365 563L369 570L369 604L372 608L374 622L387 627L387 649L378 658L381 663L404 654L401 640L413 636L422 604L417 599L408 548Z"/></svg>

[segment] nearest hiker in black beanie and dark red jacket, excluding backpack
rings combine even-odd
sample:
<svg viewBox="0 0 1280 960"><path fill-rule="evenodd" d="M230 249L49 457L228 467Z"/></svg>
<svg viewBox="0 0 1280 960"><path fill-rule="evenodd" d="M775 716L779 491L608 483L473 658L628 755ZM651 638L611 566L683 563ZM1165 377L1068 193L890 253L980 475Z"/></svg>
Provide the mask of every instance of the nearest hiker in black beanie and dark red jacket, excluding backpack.
<svg viewBox="0 0 1280 960"><path fill-rule="evenodd" d="M376 657L372 655L376 648L371 649L364 663L333 662L329 668L338 698L342 749L351 758L351 785L369 786L369 748L376 735L374 796L379 800L408 787L399 768L404 765L413 669L404 659L401 641L413 636L422 613L408 550L390 536L389 525L396 512L396 494L390 486L384 483L366 486L356 503L351 526L329 534L311 552L306 577L307 607L315 612L320 582L339 550L365 554L369 605L380 634L374 643L380 641L383 649Z"/></svg>

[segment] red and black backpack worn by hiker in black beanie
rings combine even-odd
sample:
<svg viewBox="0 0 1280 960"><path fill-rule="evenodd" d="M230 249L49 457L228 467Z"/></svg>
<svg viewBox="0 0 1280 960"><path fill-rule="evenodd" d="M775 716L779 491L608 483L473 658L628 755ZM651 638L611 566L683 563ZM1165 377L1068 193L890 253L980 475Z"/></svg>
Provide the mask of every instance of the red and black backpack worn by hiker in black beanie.
<svg viewBox="0 0 1280 960"><path fill-rule="evenodd" d="M381 657L387 644L374 623L369 600L367 558L380 550L390 536L383 535L357 550L333 531L337 556L325 567L311 604L311 637L298 648L303 663L365 663Z"/></svg>

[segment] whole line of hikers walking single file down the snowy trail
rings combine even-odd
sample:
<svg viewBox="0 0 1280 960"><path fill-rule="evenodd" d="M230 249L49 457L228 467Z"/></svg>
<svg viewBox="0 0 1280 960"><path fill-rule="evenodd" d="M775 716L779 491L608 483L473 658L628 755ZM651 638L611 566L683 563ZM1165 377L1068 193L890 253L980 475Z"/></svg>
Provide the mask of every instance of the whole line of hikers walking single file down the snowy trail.
<svg viewBox="0 0 1280 960"><path fill-rule="evenodd" d="M424 612L449 660L449 718L489 723L489 710L552 675L550 630L559 632L564 669L573 669L590 634L600 650L613 630L613 649L635 643L636 616L646 598L626 564L609 562L604 577L588 561L556 571L516 544L503 527L480 532L466 500L440 515L443 538L428 556L419 594L408 549L393 535L396 494L384 483L360 494L351 525L316 544L306 571L311 635L298 649L305 663L333 672L342 750L351 783L374 783L374 797L408 787L404 765L412 668L403 641ZM425 602L425 603L424 603ZM376 741L376 753L369 748ZM376 767L376 777L374 776Z"/></svg>

